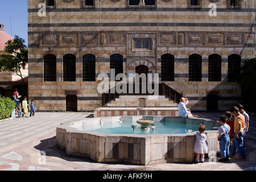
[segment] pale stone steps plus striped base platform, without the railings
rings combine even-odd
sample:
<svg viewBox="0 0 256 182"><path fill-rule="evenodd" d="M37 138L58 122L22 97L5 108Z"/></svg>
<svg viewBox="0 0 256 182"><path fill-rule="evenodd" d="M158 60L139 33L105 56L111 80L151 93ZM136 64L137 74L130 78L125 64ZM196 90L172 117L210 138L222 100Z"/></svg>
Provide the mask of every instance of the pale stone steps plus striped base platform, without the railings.
<svg viewBox="0 0 256 182"><path fill-rule="evenodd" d="M94 110L94 117L157 115L179 116L177 103L165 96L119 96Z"/></svg>

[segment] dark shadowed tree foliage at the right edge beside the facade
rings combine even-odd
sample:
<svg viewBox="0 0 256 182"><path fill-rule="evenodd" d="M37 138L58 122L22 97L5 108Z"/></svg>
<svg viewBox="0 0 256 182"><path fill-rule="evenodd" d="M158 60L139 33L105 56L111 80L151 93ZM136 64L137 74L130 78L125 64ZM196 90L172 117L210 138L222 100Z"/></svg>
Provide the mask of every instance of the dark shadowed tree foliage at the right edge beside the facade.
<svg viewBox="0 0 256 182"><path fill-rule="evenodd" d="M245 60L241 73L242 105L246 111L256 111L256 57Z"/></svg>

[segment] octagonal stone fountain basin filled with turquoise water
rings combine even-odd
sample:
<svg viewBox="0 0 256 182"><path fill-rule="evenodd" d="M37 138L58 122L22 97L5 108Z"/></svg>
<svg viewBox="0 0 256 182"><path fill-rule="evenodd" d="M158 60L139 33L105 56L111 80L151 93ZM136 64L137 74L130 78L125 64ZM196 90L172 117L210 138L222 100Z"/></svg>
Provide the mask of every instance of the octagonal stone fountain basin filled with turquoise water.
<svg viewBox="0 0 256 182"><path fill-rule="evenodd" d="M141 125L145 121L148 121L146 127ZM209 151L219 152L214 122L199 118L85 118L60 123L56 128L56 141L57 147L65 150L68 156L99 163L192 163L195 160L195 134L200 123L207 127Z"/></svg>

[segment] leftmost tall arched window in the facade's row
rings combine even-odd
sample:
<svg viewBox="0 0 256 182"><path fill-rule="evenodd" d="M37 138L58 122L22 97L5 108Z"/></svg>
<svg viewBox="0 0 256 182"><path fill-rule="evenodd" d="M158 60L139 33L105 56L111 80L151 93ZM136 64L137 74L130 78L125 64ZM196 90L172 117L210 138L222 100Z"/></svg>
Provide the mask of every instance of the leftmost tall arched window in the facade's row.
<svg viewBox="0 0 256 182"><path fill-rule="evenodd" d="M56 56L44 56L44 81L56 81Z"/></svg>

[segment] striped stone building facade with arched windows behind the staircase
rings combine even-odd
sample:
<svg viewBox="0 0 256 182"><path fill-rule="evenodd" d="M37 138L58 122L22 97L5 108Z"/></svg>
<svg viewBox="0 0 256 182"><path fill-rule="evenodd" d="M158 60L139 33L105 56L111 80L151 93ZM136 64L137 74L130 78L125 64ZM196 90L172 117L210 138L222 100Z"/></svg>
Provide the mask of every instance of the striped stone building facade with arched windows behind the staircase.
<svg viewBox="0 0 256 182"><path fill-rule="evenodd" d="M255 56L255 15L254 0L28 0L29 100L91 111L101 73L146 68L191 110L227 110Z"/></svg>

